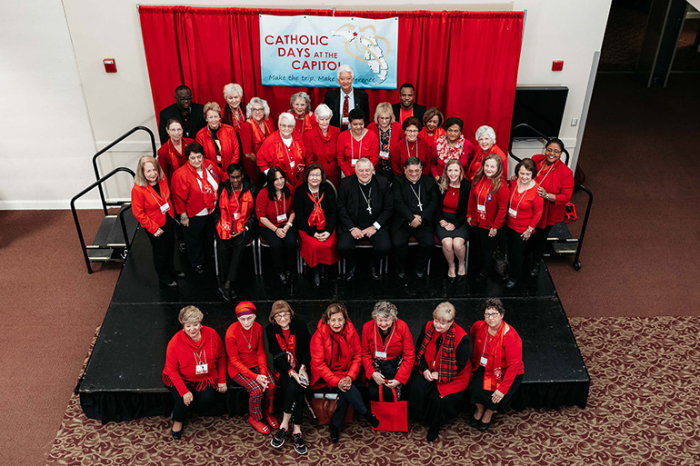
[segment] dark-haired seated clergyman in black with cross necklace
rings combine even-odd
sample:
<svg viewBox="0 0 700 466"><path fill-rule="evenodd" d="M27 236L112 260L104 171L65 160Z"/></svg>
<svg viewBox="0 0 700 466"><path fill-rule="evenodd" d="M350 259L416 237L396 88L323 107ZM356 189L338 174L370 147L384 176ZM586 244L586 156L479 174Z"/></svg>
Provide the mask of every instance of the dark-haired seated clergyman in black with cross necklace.
<svg viewBox="0 0 700 466"><path fill-rule="evenodd" d="M433 216L439 203L437 184L423 174L423 164L418 157L408 157L404 174L394 177L394 219L391 224L391 241L394 244L395 273L405 279L405 258L408 239L418 242L415 256L415 276L423 278L430 254L435 246Z"/></svg>

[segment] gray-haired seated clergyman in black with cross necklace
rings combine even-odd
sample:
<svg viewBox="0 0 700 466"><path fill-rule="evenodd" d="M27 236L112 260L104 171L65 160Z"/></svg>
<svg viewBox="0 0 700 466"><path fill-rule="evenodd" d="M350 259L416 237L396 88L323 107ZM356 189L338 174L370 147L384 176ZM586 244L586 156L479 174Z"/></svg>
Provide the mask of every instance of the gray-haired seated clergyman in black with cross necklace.
<svg viewBox="0 0 700 466"><path fill-rule="evenodd" d="M349 268L345 280L355 278L355 245L363 238L374 248L370 261L372 278L379 280L379 262L391 252L388 226L394 203L389 182L375 174L372 162L363 157L355 174L343 179L338 191L338 252Z"/></svg>

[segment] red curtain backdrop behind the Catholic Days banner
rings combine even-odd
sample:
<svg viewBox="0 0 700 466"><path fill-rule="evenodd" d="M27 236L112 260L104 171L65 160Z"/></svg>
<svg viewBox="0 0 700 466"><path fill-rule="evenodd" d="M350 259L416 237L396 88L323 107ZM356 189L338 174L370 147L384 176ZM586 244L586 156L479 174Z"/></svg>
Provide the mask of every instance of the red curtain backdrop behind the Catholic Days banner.
<svg viewBox="0 0 700 466"><path fill-rule="evenodd" d="M175 102L175 87L192 88L195 102L224 107L225 84L238 83L244 102L258 96L275 119L299 91L313 108L328 88L264 86L260 79L259 15L332 15L330 10L264 10L140 6L141 30L155 114ZM398 16L398 84L415 85L415 102L438 107L445 118L465 122L465 137L476 128L494 127L506 148L515 99L523 34L522 12L359 12L338 16ZM335 73L335 72L331 72ZM398 102L398 90L367 90L370 108ZM245 108L245 106L244 106Z"/></svg>

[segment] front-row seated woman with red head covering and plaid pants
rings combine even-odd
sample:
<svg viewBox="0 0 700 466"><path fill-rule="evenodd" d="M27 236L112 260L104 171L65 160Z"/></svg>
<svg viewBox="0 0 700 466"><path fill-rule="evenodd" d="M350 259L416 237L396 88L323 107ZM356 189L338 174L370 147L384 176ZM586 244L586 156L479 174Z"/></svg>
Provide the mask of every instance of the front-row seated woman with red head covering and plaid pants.
<svg viewBox="0 0 700 466"><path fill-rule="evenodd" d="M228 376L245 388L248 398L248 423L255 431L270 433L279 422L273 413L275 378L267 369L267 354L263 342L263 327L255 322L255 304L239 302L235 306L234 322L226 330L225 343L228 354ZM263 422L265 421L270 427Z"/></svg>

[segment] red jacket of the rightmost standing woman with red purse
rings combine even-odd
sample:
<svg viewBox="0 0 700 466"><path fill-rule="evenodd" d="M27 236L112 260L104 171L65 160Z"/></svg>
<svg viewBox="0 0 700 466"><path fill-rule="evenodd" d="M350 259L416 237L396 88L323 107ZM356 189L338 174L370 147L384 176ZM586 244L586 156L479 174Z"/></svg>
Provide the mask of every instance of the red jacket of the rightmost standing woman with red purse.
<svg viewBox="0 0 700 466"><path fill-rule="evenodd" d="M545 168L546 157L543 154L533 155L533 162L537 165L537 177L535 181L549 194L555 195L555 201L545 201L542 210L539 228L564 222L566 203L571 201L574 193L574 174L564 162L557 160L552 168Z"/></svg>

